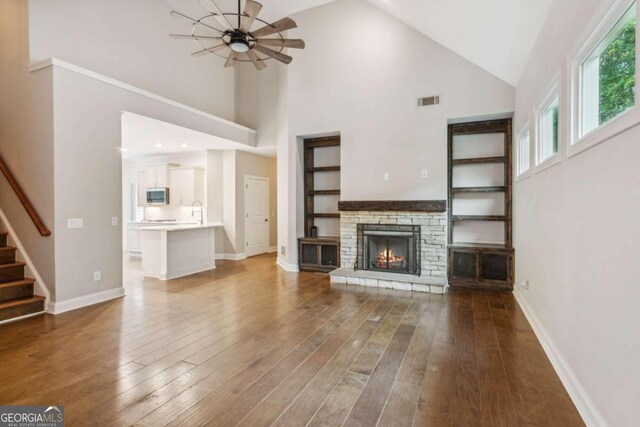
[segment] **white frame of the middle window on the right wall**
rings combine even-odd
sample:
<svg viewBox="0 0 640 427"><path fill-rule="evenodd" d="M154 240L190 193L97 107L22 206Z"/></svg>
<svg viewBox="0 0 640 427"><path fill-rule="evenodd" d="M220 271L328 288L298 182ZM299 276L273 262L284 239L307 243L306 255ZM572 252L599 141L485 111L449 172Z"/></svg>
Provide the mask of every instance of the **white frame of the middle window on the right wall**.
<svg viewBox="0 0 640 427"><path fill-rule="evenodd" d="M542 154L542 120L544 118L544 112L547 108L558 98L558 151L546 159L541 160ZM560 163L561 154L562 154L562 146L564 141L563 131L563 114L564 111L564 103L563 96L560 93L560 78L558 73L556 73L556 77L552 79L552 83L549 85L549 89L546 92L546 95L542 100L538 103L538 108L535 110L535 140L534 140L534 154L533 154L533 172L538 173L543 170Z"/></svg>

